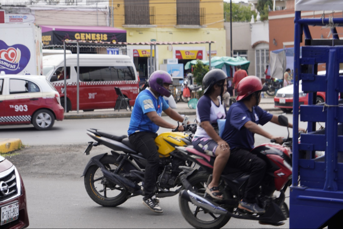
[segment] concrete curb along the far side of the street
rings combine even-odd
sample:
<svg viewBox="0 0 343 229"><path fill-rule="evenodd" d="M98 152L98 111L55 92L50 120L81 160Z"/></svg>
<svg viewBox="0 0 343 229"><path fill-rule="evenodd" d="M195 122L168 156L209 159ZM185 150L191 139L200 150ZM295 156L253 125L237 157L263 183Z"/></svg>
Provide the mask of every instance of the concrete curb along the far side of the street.
<svg viewBox="0 0 343 229"><path fill-rule="evenodd" d="M280 108L273 107L273 108L266 108L266 111L281 111ZM196 115L195 109L188 109L188 110L178 110L175 109L181 115ZM162 112L162 116L166 116L164 112ZM123 112L123 113L87 113L87 114L64 114L64 119L104 119L104 118L130 118L131 112Z"/></svg>

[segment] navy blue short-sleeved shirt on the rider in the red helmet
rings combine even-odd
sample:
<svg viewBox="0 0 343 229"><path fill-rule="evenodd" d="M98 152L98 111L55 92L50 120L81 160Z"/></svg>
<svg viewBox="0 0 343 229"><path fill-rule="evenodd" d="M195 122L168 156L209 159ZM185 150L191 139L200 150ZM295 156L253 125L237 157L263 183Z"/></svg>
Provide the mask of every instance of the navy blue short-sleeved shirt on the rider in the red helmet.
<svg viewBox="0 0 343 229"><path fill-rule="evenodd" d="M227 112L225 129L222 135L231 149L235 147L251 150L254 147L254 133L244 127L248 121L264 125L272 119L273 115L259 106L254 106L252 112L242 101L234 103Z"/></svg>

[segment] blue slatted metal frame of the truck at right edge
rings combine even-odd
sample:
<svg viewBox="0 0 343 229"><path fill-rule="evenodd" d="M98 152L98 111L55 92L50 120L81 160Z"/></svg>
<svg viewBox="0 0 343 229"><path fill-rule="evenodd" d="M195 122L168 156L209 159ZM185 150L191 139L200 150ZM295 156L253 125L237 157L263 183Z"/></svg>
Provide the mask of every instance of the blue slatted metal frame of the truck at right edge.
<svg viewBox="0 0 343 229"><path fill-rule="evenodd" d="M290 228L343 228L343 40L335 26L339 18L301 18L295 12L294 99L293 99L293 180L290 188ZM309 26L328 25L333 39L312 39ZM301 47L305 35L305 46ZM317 75L318 63L326 63L326 75ZM308 105L300 106L300 121L308 132L300 135L299 80L309 93ZM317 92L326 92L326 101L316 105ZM325 128L316 130L316 122ZM325 151L315 157L316 151Z"/></svg>

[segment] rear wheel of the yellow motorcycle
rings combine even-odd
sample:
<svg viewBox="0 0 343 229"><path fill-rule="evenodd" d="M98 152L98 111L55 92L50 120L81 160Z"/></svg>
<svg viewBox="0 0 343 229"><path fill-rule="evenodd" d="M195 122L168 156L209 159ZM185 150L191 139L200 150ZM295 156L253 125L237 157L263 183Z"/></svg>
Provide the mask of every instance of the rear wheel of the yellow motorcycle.
<svg viewBox="0 0 343 229"><path fill-rule="evenodd" d="M109 171L114 171L119 166L117 158L110 155L101 158L100 162ZM115 207L127 201L129 192L108 181L101 169L96 165L88 168L84 176L84 183L88 195L99 205Z"/></svg>

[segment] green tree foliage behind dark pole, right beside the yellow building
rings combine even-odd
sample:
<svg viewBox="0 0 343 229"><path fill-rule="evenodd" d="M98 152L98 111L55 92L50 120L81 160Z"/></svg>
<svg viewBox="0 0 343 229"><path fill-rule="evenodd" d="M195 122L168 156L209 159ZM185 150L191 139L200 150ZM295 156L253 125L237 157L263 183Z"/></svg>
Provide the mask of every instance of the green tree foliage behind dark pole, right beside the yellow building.
<svg viewBox="0 0 343 229"><path fill-rule="evenodd" d="M256 19L256 12L252 11L249 6L232 3L232 21L233 22L249 22L251 15ZM224 19L230 21L230 3L224 2Z"/></svg>

